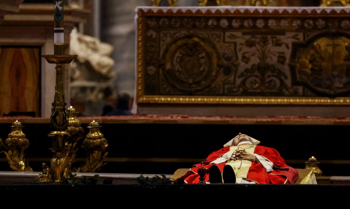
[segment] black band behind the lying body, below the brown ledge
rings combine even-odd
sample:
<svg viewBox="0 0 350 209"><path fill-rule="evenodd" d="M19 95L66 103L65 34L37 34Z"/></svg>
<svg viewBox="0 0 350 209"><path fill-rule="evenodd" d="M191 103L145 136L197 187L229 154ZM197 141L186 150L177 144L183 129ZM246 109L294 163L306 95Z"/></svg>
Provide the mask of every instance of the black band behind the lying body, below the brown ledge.
<svg viewBox="0 0 350 209"><path fill-rule="evenodd" d="M23 132L30 142L26 158L52 158L48 138L49 124L23 124ZM191 168L204 160L212 151L221 149L239 132L257 140L260 145L279 151L287 165L305 168L304 161L315 156L321 163L323 175L350 175L350 160L347 151L347 125L264 125L264 124L165 124L165 123L106 123L100 129L109 144L107 164L103 173L173 174L178 168ZM11 131L10 124L0 124L3 142ZM82 124L85 135L88 124ZM80 141L80 145L82 144ZM1 150L5 150L3 147ZM85 159L82 148L76 158ZM114 160L112 159L114 158ZM115 160L115 158L119 158ZM127 159L120 159L127 158ZM156 158L149 160L144 158ZM162 162L163 158L179 158L175 162ZM329 162L327 160L335 160ZM338 160L338 161L337 161ZM322 163L322 161L327 161ZM43 161L30 161L34 171L42 171ZM49 165L49 161L45 162ZM79 167L78 161L72 167ZM0 154L0 170L11 171Z"/></svg>

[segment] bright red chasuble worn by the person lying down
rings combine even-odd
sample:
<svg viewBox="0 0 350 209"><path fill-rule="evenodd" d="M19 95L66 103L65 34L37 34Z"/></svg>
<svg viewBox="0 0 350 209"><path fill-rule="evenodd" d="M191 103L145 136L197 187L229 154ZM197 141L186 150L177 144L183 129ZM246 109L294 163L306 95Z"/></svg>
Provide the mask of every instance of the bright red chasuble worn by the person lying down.
<svg viewBox="0 0 350 209"><path fill-rule="evenodd" d="M199 175L197 173L198 168L204 167L204 168L210 168L212 165L210 164L211 161L221 157L226 152L230 151L230 146L224 147L221 150L214 151L209 154L205 162L196 164L191 168L189 171L186 172L183 176L181 176L180 179L183 179L186 183L198 183L199 182ZM267 184L267 183L279 183L279 184L285 184L287 183L287 176L283 174L283 170L288 170L288 166L285 164L284 159L280 156L277 150L265 147L265 146L259 146L257 145L254 149L254 154L259 154L260 156L263 156L267 158L269 161L273 163L273 171L266 172L264 166L262 166L260 163L252 162L252 165L250 166L247 174L248 180L260 183L260 184ZM222 172L225 164L227 163L227 160L223 163L216 164L219 167L219 170ZM205 174L205 182L209 181L209 174Z"/></svg>

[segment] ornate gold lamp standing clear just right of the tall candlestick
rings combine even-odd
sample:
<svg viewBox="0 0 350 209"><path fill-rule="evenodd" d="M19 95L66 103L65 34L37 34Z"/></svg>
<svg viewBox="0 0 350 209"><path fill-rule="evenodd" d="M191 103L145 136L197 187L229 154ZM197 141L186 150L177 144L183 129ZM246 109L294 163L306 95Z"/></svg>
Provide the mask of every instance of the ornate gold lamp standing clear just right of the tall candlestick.
<svg viewBox="0 0 350 209"><path fill-rule="evenodd" d="M96 172L104 165L103 160L107 157L107 139L103 138L97 121L92 121L87 128L89 133L83 142L86 149L87 158L82 167L78 168L78 172Z"/></svg>

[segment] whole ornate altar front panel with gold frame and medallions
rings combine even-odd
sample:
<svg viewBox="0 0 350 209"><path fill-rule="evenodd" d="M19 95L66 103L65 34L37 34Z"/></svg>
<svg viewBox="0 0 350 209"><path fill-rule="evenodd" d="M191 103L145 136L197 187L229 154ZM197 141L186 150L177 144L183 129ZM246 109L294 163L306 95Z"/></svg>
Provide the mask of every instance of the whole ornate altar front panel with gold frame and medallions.
<svg viewBox="0 0 350 209"><path fill-rule="evenodd" d="M350 7L137 7L137 102L350 104Z"/></svg>

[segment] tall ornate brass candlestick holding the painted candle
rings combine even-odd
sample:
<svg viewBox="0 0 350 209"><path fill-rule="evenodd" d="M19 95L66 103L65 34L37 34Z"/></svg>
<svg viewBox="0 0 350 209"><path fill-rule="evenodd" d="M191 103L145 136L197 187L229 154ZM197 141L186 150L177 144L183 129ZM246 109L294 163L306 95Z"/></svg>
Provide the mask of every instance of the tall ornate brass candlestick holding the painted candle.
<svg viewBox="0 0 350 209"><path fill-rule="evenodd" d="M54 158L50 163L50 168L43 165L44 171L38 178L38 182L62 182L70 171L70 162L67 162L66 140L71 137L67 132L69 124L69 116L66 113L66 103L64 102L63 92L63 64L69 64L77 55L64 55L64 44L54 44L54 55L42 55L50 64L56 64L56 86L54 102L51 108L51 132L48 135L52 140L52 148ZM45 173L44 173L45 172Z"/></svg>

